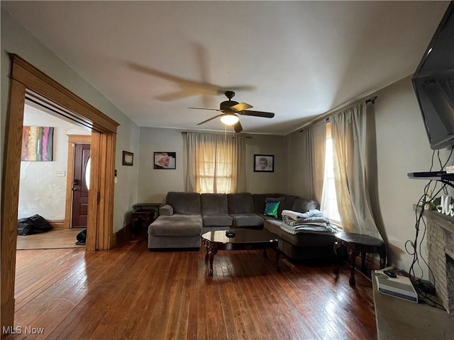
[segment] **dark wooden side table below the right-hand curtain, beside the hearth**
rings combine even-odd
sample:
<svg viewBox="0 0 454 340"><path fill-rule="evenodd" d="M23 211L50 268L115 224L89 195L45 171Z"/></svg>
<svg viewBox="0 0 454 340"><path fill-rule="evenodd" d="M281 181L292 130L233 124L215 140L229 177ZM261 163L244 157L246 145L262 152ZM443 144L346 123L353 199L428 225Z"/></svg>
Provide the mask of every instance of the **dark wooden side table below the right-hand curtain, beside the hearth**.
<svg viewBox="0 0 454 340"><path fill-rule="evenodd" d="M353 232L338 232L336 235L338 239L334 243L334 253L337 256L337 264L334 268L336 277L339 275L340 256L338 249L341 246L347 248L348 262L350 263L350 285L355 285L355 258L361 253L361 271L365 271L365 259L367 253L375 253L380 255L380 269L384 268L386 263L386 246L381 239L375 237L355 234Z"/></svg>

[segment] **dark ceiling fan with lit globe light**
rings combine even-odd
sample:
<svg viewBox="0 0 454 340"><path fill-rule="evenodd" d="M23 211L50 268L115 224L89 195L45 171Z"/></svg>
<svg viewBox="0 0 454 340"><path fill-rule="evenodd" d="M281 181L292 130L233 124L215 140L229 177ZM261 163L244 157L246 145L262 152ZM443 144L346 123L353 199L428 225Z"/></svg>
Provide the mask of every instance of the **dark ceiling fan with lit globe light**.
<svg viewBox="0 0 454 340"><path fill-rule="evenodd" d="M262 118L273 118L275 116L275 114L271 112L248 110L248 108L253 108L253 106L248 103L238 103L238 101L232 101L233 96L235 96L235 92L233 91L226 91L224 94L228 98L228 101L223 101L219 105L219 108L194 108L198 110L212 110L222 112L220 115L215 115L214 117L204 120L197 125L202 125L209 122L210 120L221 117L222 123L226 125L233 125L233 130L235 130L235 132L241 132L243 131L243 127L241 126L240 118L238 118L238 115L253 115L255 117Z"/></svg>

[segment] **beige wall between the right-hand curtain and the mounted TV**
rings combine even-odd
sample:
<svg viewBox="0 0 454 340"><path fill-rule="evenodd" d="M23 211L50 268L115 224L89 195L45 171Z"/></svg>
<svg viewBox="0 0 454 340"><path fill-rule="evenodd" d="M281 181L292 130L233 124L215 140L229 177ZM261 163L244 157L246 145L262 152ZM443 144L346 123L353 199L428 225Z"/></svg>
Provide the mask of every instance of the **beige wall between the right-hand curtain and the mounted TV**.
<svg viewBox="0 0 454 340"><path fill-rule="evenodd" d="M408 179L406 174L428 171L432 150L410 77L378 91L377 96L375 121L380 210L392 264L408 271L412 256L406 253L405 242L408 239L413 241L415 237L413 205L418 203L428 181ZM445 159L445 150L441 154ZM438 169L439 166L435 166L433 170ZM421 229L419 241L422 234ZM423 240L422 253L426 254L426 239ZM420 263L426 277L427 268L422 259Z"/></svg>

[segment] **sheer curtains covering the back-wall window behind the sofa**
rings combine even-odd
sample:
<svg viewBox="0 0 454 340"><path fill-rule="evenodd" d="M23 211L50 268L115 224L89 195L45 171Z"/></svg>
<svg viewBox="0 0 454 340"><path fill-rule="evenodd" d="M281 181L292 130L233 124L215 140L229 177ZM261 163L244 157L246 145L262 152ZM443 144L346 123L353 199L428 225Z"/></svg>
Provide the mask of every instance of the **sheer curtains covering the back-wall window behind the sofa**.
<svg viewBox="0 0 454 340"><path fill-rule="evenodd" d="M187 192L245 191L245 141L242 136L186 134Z"/></svg>

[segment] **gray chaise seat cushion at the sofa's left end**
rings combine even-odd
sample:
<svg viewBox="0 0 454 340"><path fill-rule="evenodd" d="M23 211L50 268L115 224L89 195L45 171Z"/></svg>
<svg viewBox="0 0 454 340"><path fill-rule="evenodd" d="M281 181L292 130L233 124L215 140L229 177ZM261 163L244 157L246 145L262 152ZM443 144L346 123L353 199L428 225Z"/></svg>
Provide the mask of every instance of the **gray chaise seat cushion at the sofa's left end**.
<svg viewBox="0 0 454 340"><path fill-rule="evenodd" d="M201 215L160 216L148 227L153 236L192 236L200 235Z"/></svg>

